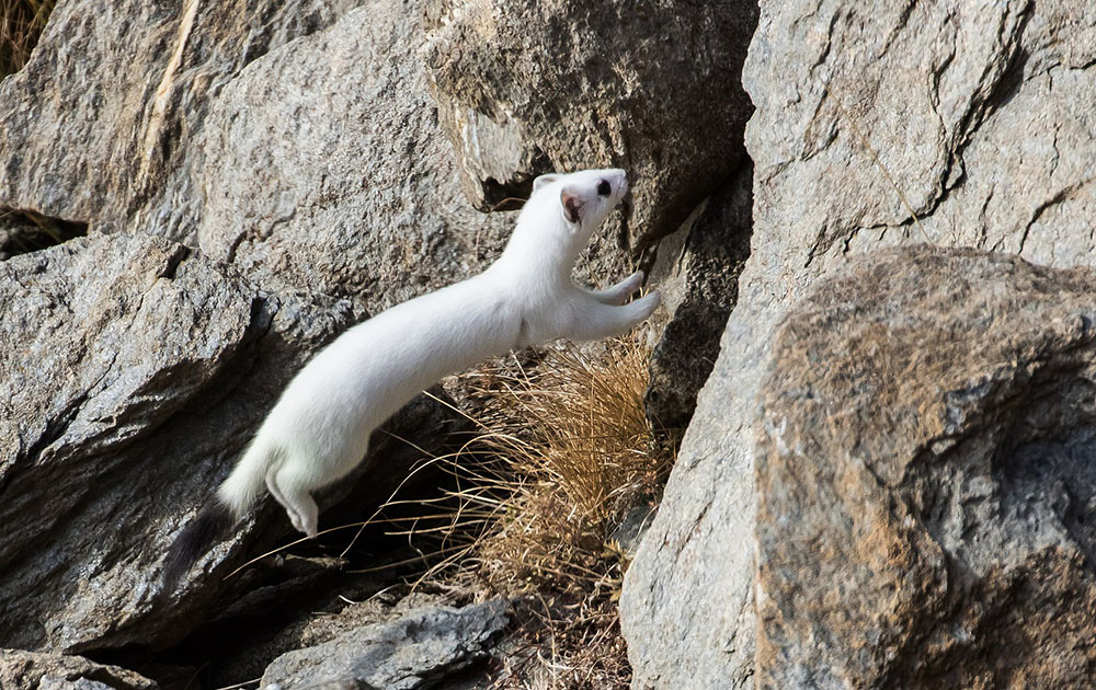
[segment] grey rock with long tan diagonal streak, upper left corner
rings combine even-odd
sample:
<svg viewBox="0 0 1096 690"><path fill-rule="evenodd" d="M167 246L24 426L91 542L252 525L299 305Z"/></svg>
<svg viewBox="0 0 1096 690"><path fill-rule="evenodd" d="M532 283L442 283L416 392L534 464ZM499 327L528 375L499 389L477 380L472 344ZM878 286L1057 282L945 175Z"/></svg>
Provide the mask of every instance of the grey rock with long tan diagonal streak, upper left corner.
<svg viewBox="0 0 1096 690"><path fill-rule="evenodd" d="M354 4L58 3L27 65L0 83L0 207L187 239L202 209L193 145L218 92Z"/></svg>

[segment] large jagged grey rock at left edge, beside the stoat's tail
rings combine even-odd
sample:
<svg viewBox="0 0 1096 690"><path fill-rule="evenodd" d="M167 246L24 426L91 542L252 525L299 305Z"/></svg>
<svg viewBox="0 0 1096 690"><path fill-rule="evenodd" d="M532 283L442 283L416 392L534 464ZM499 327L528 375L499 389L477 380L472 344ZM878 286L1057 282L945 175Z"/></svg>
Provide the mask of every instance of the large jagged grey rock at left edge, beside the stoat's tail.
<svg viewBox="0 0 1096 690"><path fill-rule="evenodd" d="M75 649L150 612L157 529L207 479L187 459L216 447L208 418L180 421L238 384L274 306L147 235L73 240L0 275L0 640Z"/></svg>

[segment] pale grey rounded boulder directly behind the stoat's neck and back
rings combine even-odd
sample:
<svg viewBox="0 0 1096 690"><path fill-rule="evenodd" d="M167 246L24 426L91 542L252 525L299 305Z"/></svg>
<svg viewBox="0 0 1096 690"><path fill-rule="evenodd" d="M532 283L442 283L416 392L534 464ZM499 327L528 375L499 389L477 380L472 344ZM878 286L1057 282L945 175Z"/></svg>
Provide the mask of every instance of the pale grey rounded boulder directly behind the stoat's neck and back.
<svg viewBox="0 0 1096 690"><path fill-rule="evenodd" d="M225 85L196 146L204 252L372 312L487 266L514 217L460 192L416 56L422 4L365 2Z"/></svg>

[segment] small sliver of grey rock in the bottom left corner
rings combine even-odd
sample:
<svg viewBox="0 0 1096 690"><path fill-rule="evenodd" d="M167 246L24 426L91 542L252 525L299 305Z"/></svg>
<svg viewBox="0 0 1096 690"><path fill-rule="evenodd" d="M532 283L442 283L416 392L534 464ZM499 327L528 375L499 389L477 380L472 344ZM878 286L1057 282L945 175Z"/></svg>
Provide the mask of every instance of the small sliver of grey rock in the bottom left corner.
<svg viewBox="0 0 1096 690"><path fill-rule="evenodd" d="M0 649L0 688L21 690L156 690L151 680L81 656Z"/></svg>

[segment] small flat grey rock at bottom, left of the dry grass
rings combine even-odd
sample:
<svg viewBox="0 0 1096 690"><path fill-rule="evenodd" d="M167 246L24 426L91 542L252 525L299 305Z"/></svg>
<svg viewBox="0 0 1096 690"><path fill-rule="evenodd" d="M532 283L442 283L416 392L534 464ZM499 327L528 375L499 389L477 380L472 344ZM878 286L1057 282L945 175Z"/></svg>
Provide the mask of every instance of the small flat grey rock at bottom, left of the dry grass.
<svg viewBox="0 0 1096 690"><path fill-rule="evenodd" d="M347 631L330 642L284 654L262 687L425 690L482 662L510 619L510 602L460 609L415 609L387 623Z"/></svg>

